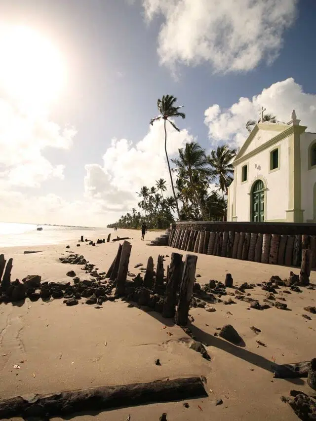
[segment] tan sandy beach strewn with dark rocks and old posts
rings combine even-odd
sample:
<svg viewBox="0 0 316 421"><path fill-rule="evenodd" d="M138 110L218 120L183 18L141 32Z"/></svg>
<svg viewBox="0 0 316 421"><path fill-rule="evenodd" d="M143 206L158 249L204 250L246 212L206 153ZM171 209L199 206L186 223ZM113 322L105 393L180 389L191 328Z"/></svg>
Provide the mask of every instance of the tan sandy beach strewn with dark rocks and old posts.
<svg viewBox="0 0 316 421"><path fill-rule="evenodd" d="M130 237L132 251L129 271L138 263L146 267L152 256L156 265L158 255L165 256L164 268L170 262L171 253L177 250L167 246L149 246L157 237L157 231L148 232L145 241L140 231L98 230L82 232L94 241L112 232ZM92 235L94 237L92 238ZM107 271L118 249L118 242L98 244L95 247L81 243L76 247L79 231L73 239L65 239L58 245L32 245L2 247L5 258L13 258L11 280L27 275L40 275L41 281L69 281L66 273L75 270L82 279L90 275L82 265L62 264L59 258L69 253L79 253L95 264L98 272ZM70 245L66 249L66 245ZM24 251L39 251L24 254ZM184 257L186 252L182 252ZM168 257L167 257L168 256ZM243 282L261 283L272 275L281 279L297 268L264 265L260 263L226 259L216 256L197 255L197 282L210 279L224 281L226 273L234 278L234 287L227 291L221 303L215 303L216 311L191 308L188 327L197 340L207 344L211 361L189 348L192 339L161 314L145 312L128 303L107 301L100 308L83 304L66 306L63 300L31 302L26 299L22 306L0 304L0 398L35 393L50 393L102 385L145 383L162 379L205 376L207 398L183 402L167 402L121 408L99 414L74 415L75 420L159 420L162 413L167 420L278 420L295 421L297 416L288 404L281 402L282 395L289 396L291 389L313 394L306 379L275 379L271 364L299 362L316 357L316 315L303 307L316 306L316 289L301 288L302 292L277 290L276 298L284 299L288 311L275 307L259 311L249 309L249 304L234 298L236 287ZM131 277L129 277L131 279ZM312 271L311 284L316 284L316 272ZM247 291L248 292L248 291ZM251 297L263 303L266 291L257 286L249 290ZM225 305L232 298L236 304ZM302 316L310 316L310 320ZM236 346L214 336L225 324L232 324L243 339L245 346ZM164 326L166 326L165 329ZM250 327L261 332L256 334ZM171 334L169 336L168 332ZM260 345L257 341L265 344ZM161 365L155 360L159 358ZM14 368L18 365L20 368ZM314 393L315 394L315 393ZM215 405L222 399L221 405ZM59 419L55 419L59 420Z"/></svg>

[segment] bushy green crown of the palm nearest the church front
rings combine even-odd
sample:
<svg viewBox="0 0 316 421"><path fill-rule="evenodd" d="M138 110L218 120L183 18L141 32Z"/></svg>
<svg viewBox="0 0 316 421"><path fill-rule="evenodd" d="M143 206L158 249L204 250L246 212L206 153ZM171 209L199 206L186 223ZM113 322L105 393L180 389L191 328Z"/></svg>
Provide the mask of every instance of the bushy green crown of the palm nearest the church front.
<svg viewBox="0 0 316 421"><path fill-rule="evenodd" d="M232 162L236 153L236 149L230 149L227 145L224 145L218 146L216 151L212 151L211 155L207 156L207 161L212 168L213 178L218 178L218 186L222 191L223 199L224 193L227 194L227 189L233 181L234 167Z"/></svg>

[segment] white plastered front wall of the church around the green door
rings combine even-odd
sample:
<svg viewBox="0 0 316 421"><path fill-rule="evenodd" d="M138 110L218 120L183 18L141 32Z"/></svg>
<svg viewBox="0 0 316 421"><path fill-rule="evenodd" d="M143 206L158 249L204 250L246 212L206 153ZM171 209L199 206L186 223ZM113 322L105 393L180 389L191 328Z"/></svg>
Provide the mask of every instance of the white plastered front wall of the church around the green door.
<svg viewBox="0 0 316 421"><path fill-rule="evenodd" d="M261 132L259 132L261 133ZM276 132L275 132L276 133ZM269 132L271 137L271 131ZM280 169L269 173L270 151L280 145ZM286 219L285 210L288 209L288 138L281 140L248 160L248 181L241 183L241 168L247 163L244 161L237 165L236 189L236 216L237 221L250 221L251 186L261 178L266 187L266 221ZM255 168L255 164L257 168ZM260 169L259 169L260 167Z"/></svg>

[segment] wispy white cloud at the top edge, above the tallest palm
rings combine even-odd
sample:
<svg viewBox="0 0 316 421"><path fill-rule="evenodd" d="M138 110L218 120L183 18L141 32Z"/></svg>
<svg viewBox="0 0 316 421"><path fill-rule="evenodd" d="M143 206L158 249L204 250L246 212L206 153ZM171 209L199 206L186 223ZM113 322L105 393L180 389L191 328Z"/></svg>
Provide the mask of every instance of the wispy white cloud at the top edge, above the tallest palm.
<svg viewBox="0 0 316 421"><path fill-rule="evenodd" d="M297 0L142 0L151 21L162 16L161 63L209 62L215 71L248 71L273 61L296 16Z"/></svg>

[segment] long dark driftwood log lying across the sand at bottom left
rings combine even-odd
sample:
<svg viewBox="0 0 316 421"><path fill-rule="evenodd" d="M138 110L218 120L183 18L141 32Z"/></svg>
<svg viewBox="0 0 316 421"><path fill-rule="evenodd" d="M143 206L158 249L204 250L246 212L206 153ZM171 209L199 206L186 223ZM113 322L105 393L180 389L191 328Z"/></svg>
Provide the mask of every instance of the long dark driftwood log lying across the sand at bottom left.
<svg viewBox="0 0 316 421"><path fill-rule="evenodd" d="M206 396L207 393L199 377L91 387L37 395L32 400L26 400L21 396L1 399L0 419L37 417L46 420L47 417L64 417L83 411L104 411L118 407L181 401Z"/></svg>

